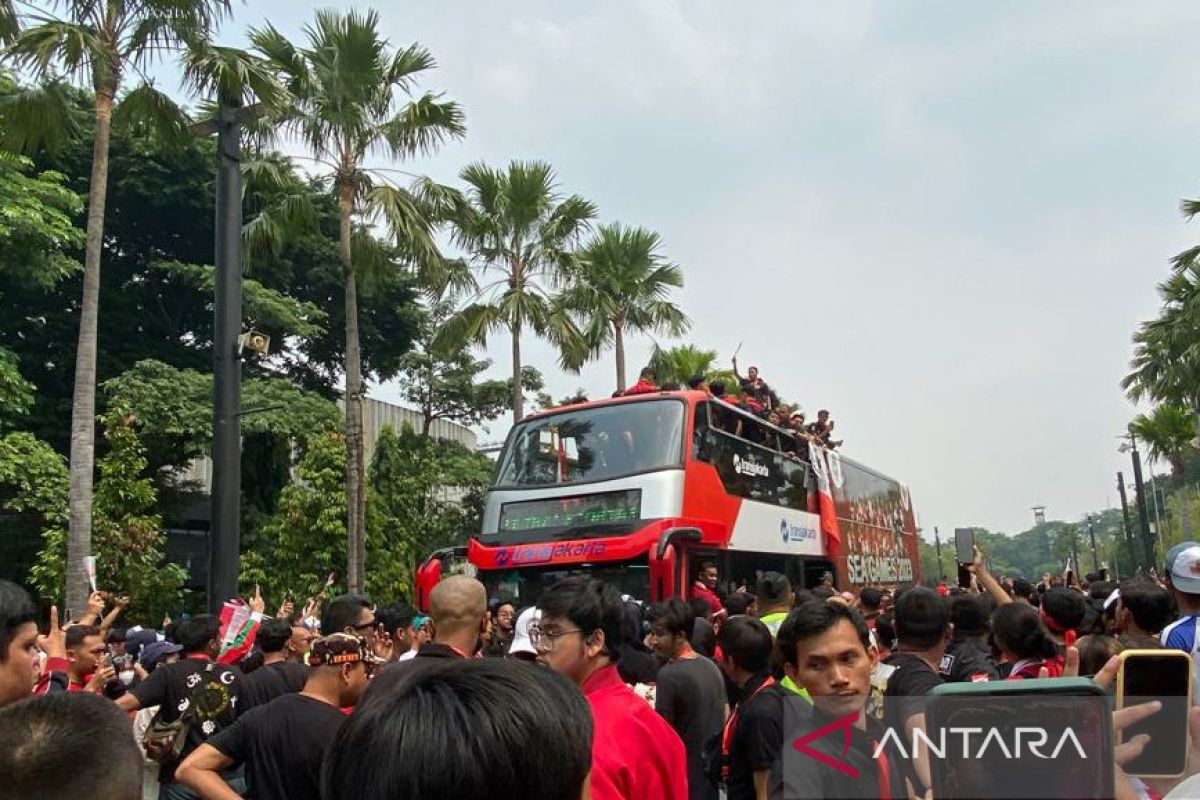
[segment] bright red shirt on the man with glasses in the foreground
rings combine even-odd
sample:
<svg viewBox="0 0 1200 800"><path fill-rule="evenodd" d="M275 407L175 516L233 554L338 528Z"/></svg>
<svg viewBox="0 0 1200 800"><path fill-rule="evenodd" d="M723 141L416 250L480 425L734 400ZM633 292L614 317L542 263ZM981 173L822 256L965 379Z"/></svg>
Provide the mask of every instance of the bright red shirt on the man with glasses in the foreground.
<svg viewBox="0 0 1200 800"><path fill-rule="evenodd" d="M583 681L592 706L593 800L688 800L683 740L608 666Z"/></svg>

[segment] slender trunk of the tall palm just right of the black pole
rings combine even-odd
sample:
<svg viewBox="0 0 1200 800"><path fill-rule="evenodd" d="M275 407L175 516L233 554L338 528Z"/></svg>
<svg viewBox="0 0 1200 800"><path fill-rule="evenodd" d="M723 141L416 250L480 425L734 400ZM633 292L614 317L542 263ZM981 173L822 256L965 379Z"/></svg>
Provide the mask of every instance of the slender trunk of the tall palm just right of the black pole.
<svg viewBox="0 0 1200 800"><path fill-rule="evenodd" d="M359 297L350 254L354 188L338 187L342 282L346 289L346 547L349 591L361 593L366 573L366 494L362 489L362 355L359 351Z"/></svg>

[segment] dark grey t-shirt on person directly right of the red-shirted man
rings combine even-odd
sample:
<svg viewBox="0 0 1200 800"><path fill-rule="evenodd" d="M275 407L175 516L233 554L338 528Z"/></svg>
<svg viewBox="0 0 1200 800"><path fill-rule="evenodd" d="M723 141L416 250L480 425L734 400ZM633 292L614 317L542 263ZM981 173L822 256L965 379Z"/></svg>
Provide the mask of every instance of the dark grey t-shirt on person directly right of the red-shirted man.
<svg viewBox="0 0 1200 800"><path fill-rule="evenodd" d="M672 661L659 669L654 709L666 720L688 751L688 796L716 800L704 776L704 745L725 723L725 679L704 656Z"/></svg>

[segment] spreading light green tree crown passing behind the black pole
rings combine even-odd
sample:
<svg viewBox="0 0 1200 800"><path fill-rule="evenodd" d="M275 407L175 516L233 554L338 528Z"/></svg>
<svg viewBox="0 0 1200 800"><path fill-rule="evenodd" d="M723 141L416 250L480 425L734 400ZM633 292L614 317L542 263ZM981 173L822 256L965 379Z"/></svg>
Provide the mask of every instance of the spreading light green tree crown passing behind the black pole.
<svg viewBox="0 0 1200 800"><path fill-rule="evenodd" d="M104 381L110 403L137 415L155 468L179 468L205 455L212 443L212 375L139 361ZM282 378L242 383L244 435L272 434L300 441L337 425L337 407Z"/></svg>

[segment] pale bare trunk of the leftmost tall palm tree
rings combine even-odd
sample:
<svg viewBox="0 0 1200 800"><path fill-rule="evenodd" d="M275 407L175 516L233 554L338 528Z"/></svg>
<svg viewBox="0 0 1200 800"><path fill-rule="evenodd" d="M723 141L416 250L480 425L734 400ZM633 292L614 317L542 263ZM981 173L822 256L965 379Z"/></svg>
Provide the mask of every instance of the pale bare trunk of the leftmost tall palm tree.
<svg viewBox="0 0 1200 800"><path fill-rule="evenodd" d="M96 137L88 185L88 245L83 261L79 341L71 403L71 518L67 534L66 608L78 616L88 606L84 559L91 555L91 492L96 461L96 338L100 321L100 257L108 196L108 140L114 91L96 92Z"/></svg>

